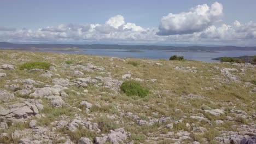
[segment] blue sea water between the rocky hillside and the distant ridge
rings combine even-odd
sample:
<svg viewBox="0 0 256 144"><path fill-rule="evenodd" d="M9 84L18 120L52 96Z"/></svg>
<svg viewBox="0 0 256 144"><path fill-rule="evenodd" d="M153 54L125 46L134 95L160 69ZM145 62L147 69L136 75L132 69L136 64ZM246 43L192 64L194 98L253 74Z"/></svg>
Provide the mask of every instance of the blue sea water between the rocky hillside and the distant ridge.
<svg viewBox="0 0 256 144"><path fill-rule="evenodd" d="M139 50L139 52L129 52L129 50L117 49L80 49L82 51L51 51L49 49L37 50L33 52L55 52L55 53L73 53L110 57L132 57L147 59L168 59L172 55L184 56L185 59L203 62L219 62L213 60L216 57L239 57L254 56L256 51L215 51L215 52L188 52L188 51L167 51L167 50ZM30 50L32 51L32 50Z"/></svg>

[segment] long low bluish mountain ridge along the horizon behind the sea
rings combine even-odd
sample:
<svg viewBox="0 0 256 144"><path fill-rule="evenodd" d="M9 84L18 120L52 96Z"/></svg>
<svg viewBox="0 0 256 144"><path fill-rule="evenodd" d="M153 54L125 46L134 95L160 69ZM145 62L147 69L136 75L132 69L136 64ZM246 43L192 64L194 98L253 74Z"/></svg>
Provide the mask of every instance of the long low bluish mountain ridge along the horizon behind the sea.
<svg viewBox="0 0 256 144"><path fill-rule="evenodd" d="M160 46L160 45L110 45L110 44L14 44L0 42L0 48L24 49L24 48L67 48L78 49L124 49L124 50L186 50L186 51L256 51L256 46Z"/></svg>

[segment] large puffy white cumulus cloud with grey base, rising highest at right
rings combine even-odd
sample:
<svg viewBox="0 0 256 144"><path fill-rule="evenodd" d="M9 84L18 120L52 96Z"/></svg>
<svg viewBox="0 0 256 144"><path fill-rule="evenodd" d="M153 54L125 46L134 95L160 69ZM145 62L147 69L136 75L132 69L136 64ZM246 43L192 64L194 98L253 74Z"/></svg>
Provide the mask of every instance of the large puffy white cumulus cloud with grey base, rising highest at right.
<svg viewBox="0 0 256 144"><path fill-rule="evenodd" d="M158 35L190 34L201 32L223 15L223 5L215 2L197 5L187 13L168 14L162 17Z"/></svg>

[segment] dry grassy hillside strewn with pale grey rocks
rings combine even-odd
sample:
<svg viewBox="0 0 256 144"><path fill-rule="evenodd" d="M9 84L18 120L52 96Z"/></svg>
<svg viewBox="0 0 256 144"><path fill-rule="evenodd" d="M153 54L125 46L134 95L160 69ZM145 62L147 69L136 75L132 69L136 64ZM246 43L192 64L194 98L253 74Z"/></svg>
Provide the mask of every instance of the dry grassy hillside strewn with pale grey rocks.
<svg viewBox="0 0 256 144"><path fill-rule="evenodd" d="M40 61L53 66L19 69ZM0 143L255 143L255 71L251 64L0 51ZM126 80L150 94L127 97L120 92Z"/></svg>

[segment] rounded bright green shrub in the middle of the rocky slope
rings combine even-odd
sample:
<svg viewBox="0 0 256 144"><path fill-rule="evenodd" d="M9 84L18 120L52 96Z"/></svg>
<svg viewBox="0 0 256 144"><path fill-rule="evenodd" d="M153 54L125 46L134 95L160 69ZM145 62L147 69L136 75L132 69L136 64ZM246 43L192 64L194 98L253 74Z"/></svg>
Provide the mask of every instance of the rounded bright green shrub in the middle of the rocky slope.
<svg viewBox="0 0 256 144"><path fill-rule="evenodd" d="M136 81L125 81L120 88L127 96L139 96L144 98L149 93L148 88L142 87Z"/></svg>

